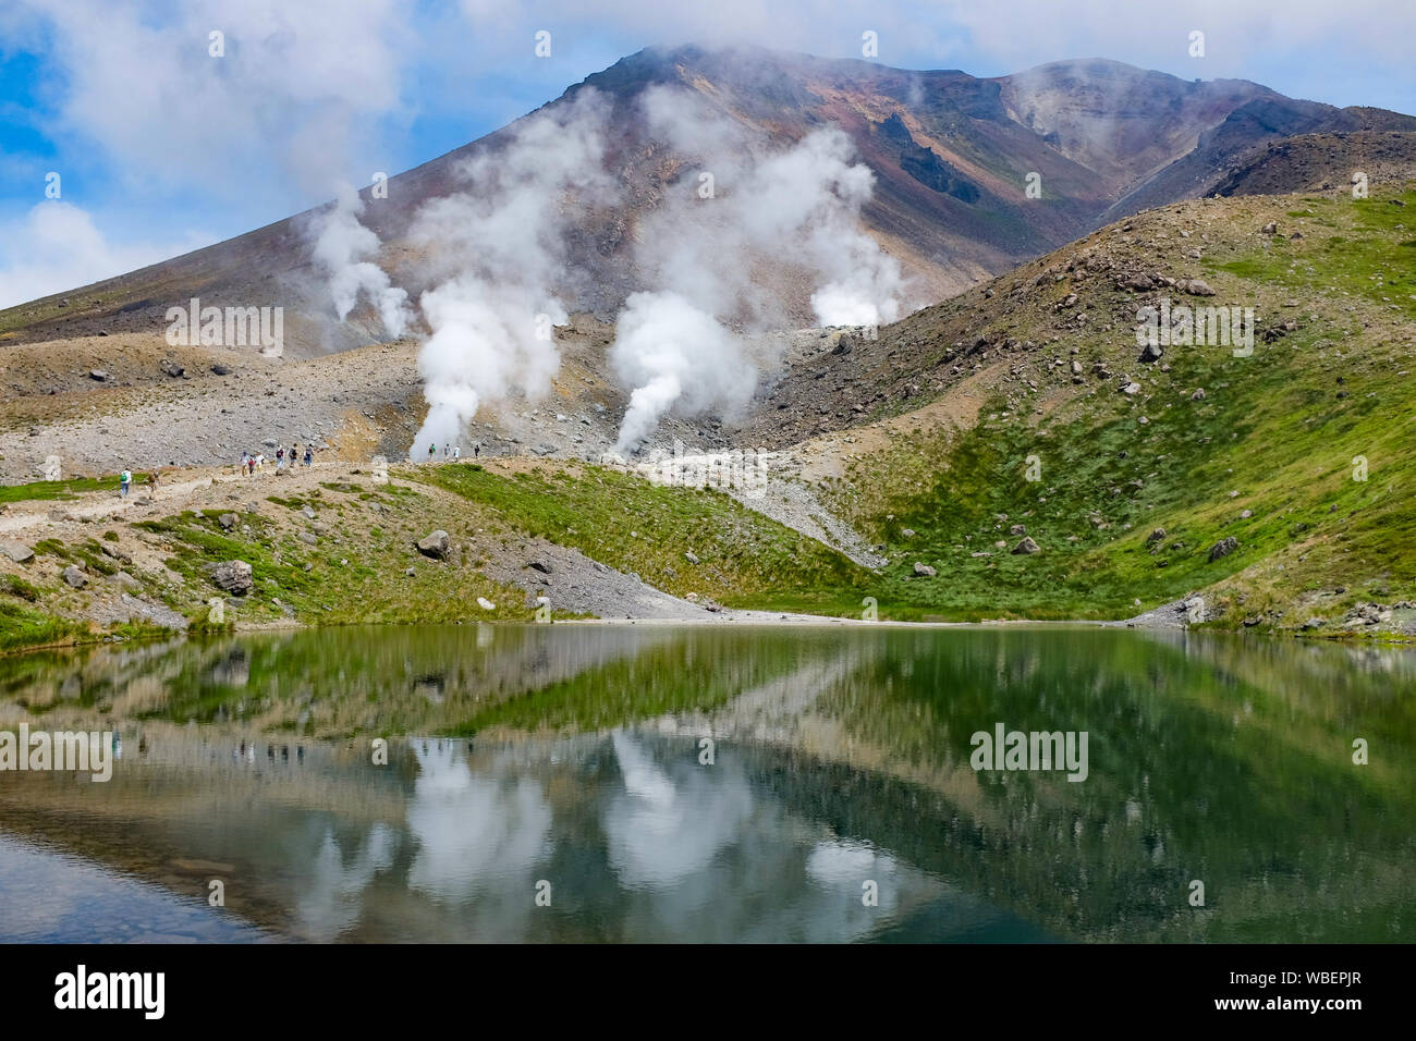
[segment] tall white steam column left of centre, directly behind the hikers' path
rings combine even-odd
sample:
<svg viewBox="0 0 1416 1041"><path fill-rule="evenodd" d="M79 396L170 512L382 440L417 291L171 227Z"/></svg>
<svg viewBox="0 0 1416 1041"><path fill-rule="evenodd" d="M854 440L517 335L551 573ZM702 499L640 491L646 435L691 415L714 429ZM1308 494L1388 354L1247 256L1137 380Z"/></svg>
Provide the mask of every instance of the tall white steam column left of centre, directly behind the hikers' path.
<svg viewBox="0 0 1416 1041"><path fill-rule="evenodd" d="M549 388L559 367L552 326L566 322L552 286L569 215L613 194L605 126L603 101L582 91L517 123L504 147L463 164L464 191L419 210L411 238L447 276L419 299L432 336L418 358L429 411L415 460L428 445L459 442L483 402Z"/></svg>

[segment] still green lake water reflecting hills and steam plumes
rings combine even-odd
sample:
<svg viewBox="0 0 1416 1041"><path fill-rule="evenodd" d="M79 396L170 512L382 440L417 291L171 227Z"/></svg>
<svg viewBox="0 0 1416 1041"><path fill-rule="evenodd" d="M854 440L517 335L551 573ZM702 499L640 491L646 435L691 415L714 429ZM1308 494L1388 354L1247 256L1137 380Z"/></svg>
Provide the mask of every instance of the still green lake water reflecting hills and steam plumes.
<svg viewBox="0 0 1416 1041"><path fill-rule="evenodd" d="M21 722L120 752L0 772L0 940L1416 939L1409 649L334 629L0 659Z"/></svg>

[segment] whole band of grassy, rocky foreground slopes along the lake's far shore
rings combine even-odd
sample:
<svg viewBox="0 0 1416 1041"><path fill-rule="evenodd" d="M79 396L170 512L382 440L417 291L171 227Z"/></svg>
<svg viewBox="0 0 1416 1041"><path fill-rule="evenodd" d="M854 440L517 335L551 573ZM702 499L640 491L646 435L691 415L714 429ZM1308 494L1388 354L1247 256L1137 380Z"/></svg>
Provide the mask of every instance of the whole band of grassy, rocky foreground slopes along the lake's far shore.
<svg viewBox="0 0 1416 1041"><path fill-rule="evenodd" d="M772 449L760 499L565 457L583 445L537 457L515 443L490 462L395 467L388 487L355 452L286 477L171 474L156 503L119 500L112 482L0 489L0 622L34 642L125 610L193 618L221 592L210 568L245 559L242 623L490 616L479 595L525 618L542 591L558 610L632 612L643 582L690 613L715 598L858 618L874 601L903 620L1144 615L1410 636L1413 215L1416 181L1368 200L1345 186L1195 200L1109 225L877 340L803 331L749 415L681 431L698 448ZM1236 307L1240 329L1252 309L1252 351L1242 337L1144 351L1141 309L1167 305L1175 330L1181 307ZM593 375L607 334L573 330L562 402L606 395L609 418L542 405L547 436L589 443L612 428L623 399ZM367 358L372 384L384 360L368 351L398 350L350 357ZM290 371L252 372L253 399L279 399ZM803 510L854 525L875 561L804 535L782 508L794 490ZM51 503L65 496L78 501ZM413 548L436 528L456 559ZM630 585L596 599L602 578Z"/></svg>

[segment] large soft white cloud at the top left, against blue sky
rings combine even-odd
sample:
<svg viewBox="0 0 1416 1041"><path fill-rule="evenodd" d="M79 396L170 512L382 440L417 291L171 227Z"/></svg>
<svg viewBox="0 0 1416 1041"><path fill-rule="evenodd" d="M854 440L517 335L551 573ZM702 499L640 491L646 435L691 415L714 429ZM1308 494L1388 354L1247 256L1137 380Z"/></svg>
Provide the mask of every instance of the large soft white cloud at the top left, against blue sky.
<svg viewBox="0 0 1416 1041"><path fill-rule="evenodd" d="M64 69L62 129L139 187L329 193L379 169L371 116L399 106L416 38L394 0L35 0ZM212 57L211 33L222 34ZM375 153L377 154L377 153ZM362 166L368 166L364 170Z"/></svg>

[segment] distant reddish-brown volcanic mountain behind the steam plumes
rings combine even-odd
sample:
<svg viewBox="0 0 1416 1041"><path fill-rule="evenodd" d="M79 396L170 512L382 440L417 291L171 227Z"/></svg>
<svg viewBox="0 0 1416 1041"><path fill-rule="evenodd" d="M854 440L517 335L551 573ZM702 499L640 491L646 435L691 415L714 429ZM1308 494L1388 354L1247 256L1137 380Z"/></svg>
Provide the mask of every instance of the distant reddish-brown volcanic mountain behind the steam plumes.
<svg viewBox="0 0 1416 1041"><path fill-rule="evenodd" d="M978 79L959 71L902 71L760 48L651 48L589 76L548 105L586 89L612 99L607 166L619 205L578 214L562 289L571 310L607 319L637 286L633 244L668 193L695 184L698 157L649 136L641 99L674 86L763 142L800 140L834 125L875 173L864 214L871 234L915 278L916 303L949 296L1103 222L1117 207L1160 205L1205 191L1226 163L1289 133L1403 129L1379 110L1334 109L1283 98L1245 81L1189 82L1119 62L1045 65ZM514 127L515 125L513 125ZM462 160L510 140L504 129L364 193L367 224L384 241L381 265L415 297L429 286L426 254L408 241L418 207L460 187ZM1029 174L1041 198L1029 200ZM78 336L159 334L166 309L286 307L286 350L309 357L385 337L368 307L334 320L310 262L302 214L139 272L0 312L0 343ZM810 286L777 265L769 275L793 317L810 316Z"/></svg>

